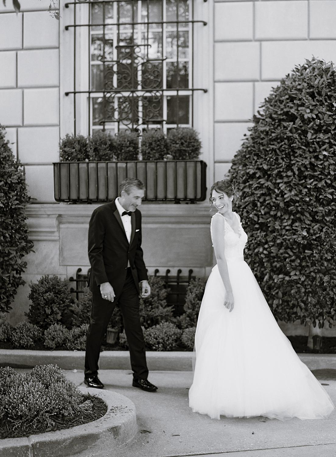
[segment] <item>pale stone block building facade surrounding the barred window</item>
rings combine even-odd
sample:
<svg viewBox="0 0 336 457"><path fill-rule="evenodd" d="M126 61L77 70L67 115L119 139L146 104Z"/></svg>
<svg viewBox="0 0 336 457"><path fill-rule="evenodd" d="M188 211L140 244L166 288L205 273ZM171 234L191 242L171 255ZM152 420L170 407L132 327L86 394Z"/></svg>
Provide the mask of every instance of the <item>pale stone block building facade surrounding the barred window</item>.
<svg viewBox="0 0 336 457"><path fill-rule="evenodd" d="M73 73L84 79L80 66L71 70L74 32L66 26L75 8L59 0L58 21L47 12L49 0L20 3L18 14L9 0L6 7L0 4L0 123L25 169L32 198L27 216L35 253L27 258L28 284L42 274L70 277L77 268L88 268L87 228L95 205L57 203L53 194L59 141L73 132L71 96L65 92L71 90ZM189 123L200 133L209 189L230 168L253 113L272 87L305 58L336 62L336 2L193 0L192 8L194 19L206 22L193 25L193 85L206 92L194 92ZM84 23L85 14L77 20ZM77 41L77 61L85 59L80 46ZM87 134L83 126L84 121L78 131ZM209 274L213 255L206 201L144 204L142 214L150 273L192 268L198 276ZM13 323L27 308L27 284L17 295Z"/></svg>

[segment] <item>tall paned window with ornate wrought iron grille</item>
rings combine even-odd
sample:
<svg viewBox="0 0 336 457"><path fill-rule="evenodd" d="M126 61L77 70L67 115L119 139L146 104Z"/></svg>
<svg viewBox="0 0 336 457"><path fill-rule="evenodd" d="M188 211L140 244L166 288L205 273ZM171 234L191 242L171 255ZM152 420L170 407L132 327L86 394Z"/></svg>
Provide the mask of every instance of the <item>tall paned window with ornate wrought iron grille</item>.
<svg viewBox="0 0 336 457"><path fill-rule="evenodd" d="M73 23L64 28L74 30L73 90L65 92L73 96L74 134L80 94L88 96L89 134L101 128L114 133L128 128L140 135L144 128L193 125L194 92L207 92L193 86L194 28L207 22L194 19L192 1L75 0L65 4L73 8ZM76 15L77 7L83 5L88 7L87 23ZM94 8L101 21L94 17ZM76 29L82 27L88 30L88 87L77 90ZM95 54L93 43L98 49Z"/></svg>

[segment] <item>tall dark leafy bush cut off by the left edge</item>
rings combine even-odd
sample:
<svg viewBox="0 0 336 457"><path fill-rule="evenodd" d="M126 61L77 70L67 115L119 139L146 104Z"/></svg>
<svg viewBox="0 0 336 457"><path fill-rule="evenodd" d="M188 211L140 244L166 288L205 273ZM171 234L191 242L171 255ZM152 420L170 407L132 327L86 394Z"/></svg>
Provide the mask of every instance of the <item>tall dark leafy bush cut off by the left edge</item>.
<svg viewBox="0 0 336 457"><path fill-rule="evenodd" d="M29 199L21 164L0 125L0 311L12 309L17 288L25 284L21 274L27 262L22 258L33 247L25 215Z"/></svg>

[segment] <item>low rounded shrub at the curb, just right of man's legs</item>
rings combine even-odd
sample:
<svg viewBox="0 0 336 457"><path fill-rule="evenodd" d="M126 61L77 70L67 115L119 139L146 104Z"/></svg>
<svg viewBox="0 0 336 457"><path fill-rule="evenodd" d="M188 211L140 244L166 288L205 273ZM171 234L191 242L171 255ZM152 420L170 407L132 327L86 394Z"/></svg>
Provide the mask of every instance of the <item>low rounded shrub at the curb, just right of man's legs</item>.
<svg viewBox="0 0 336 457"><path fill-rule="evenodd" d="M172 351L178 346L182 330L171 322L161 322L149 329L145 329L143 337L145 344L153 351Z"/></svg>

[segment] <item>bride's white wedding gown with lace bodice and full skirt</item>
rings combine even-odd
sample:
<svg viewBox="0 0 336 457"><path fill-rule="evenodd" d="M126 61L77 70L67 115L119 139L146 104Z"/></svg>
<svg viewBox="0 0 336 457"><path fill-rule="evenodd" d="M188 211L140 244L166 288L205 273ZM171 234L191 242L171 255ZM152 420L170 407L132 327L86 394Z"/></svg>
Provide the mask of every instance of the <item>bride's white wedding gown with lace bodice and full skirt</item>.
<svg viewBox="0 0 336 457"><path fill-rule="evenodd" d="M212 419L328 416L334 409L331 399L283 335L244 261L247 234L241 224L238 235L225 222L223 243L234 309L230 313L224 307L225 287L216 265L199 311L189 406Z"/></svg>

